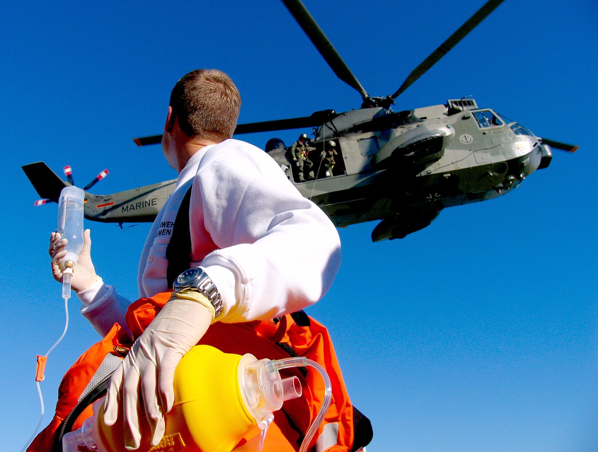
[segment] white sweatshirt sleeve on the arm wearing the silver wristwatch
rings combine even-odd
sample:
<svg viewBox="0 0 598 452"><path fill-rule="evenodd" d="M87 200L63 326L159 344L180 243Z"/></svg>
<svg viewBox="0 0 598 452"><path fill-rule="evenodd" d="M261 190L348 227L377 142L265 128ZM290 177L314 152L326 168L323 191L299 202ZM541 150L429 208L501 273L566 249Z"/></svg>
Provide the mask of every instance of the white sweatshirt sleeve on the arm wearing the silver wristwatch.
<svg viewBox="0 0 598 452"><path fill-rule="evenodd" d="M227 140L206 152L190 210L192 264L221 292L222 322L271 319L328 291L338 233L261 149Z"/></svg>

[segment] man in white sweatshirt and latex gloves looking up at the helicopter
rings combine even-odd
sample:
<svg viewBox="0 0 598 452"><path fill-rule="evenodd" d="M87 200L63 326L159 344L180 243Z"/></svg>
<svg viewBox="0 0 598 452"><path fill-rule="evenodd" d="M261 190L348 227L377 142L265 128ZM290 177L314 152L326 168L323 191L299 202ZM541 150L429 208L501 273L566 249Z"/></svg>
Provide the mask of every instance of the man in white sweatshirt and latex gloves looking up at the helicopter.
<svg viewBox="0 0 598 452"><path fill-rule="evenodd" d="M173 293L111 378L104 419L113 424L122 404L127 448L138 448L141 440L139 396L152 445L160 442L163 414L173 404L174 369L212 322L266 320L303 309L324 296L340 265L340 240L324 212L301 196L266 152L231 139L240 103L233 81L211 69L185 75L170 96L162 149L179 176L148 234L139 295L172 289L166 248L190 188L188 268L200 267L194 274L201 282L200 289ZM299 236L310 240L297 248ZM130 301L97 276L89 231L84 237L72 288L83 315L103 335L115 322L125 325ZM53 233L50 255L59 281L65 253L65 241Z"/></svg>

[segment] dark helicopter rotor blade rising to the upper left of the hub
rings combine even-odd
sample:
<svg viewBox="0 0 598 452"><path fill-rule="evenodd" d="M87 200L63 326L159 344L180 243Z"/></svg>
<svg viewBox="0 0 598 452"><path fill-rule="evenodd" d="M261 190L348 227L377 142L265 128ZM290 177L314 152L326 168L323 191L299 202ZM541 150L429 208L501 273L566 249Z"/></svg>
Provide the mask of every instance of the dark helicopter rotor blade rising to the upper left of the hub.
<svg viewBox="0 0 598 452"><path fill-rule="evenodd" d="M346 65L344 60L338 54L336 49L332 46L329 39L326 37L318 23L313 19L312 15L307 11L306 7L300 0L282 0L291 15L297 20L299 26L306 33L307 37L315 45L319 53L324 57L328 66L334 71L334 74L347 85L355 89L361 94L362 100L366 102L370 99L365 88L359 83L359 80L353 75L353 72Z"/></svg>

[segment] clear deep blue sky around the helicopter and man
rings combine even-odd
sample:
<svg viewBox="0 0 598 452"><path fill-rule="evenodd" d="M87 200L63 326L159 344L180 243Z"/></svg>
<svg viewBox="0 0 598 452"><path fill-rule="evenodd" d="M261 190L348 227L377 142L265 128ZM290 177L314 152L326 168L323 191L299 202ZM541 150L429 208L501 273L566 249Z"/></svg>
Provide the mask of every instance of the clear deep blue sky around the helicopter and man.
<svg viewBox="0 0 598 452"><path fill-rule="evenodd" d="M481 1L315 1L306 6L371 95L393 93ZM548 169L486 203L444 210L403 240L375 224L339 230L343 264L309 313L329 326L376 451L590 451L598 448L598 6L507 0L402 94L395 110L472 94L537 135L572 142ZM48 271L56 204L20 169L70 164L94 193L174 178L160 147L173 83L219 68L243 96L241 123L358 108L283 5L258 2L14 2L0 14L4 246L0 250L0 431L19 450L39 418L35 355L64 325ZM306 132L309 132L307 130ZM300 132L299 132L300 133ZM258 146L298 131L247 135ZM127 225L126 225L127 226ZM87 223L97 271L135 300L149 225ZM289 244L289 254L292 254ZM60 378L98 339L71 325L41 383L50 421Z"/></svg>

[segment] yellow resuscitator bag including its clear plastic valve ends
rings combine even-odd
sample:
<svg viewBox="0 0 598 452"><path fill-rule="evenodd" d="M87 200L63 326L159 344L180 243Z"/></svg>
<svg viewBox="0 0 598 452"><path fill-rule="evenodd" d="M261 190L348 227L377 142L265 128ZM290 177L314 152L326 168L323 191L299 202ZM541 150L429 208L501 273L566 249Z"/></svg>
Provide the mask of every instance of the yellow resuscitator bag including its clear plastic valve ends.
<svg viewBox="0 0 598 452"><path fill-rule="evenodd" d="M214 347L193 347L175 370L175 403L164 416L166 431L155 450L230 452L242 438L253 438L273 420L285 400L301 396L297 377L280 378L268 359L240 356ZM103 401L93 404L93 417L81 429L63 436L63 451L80 446L100 452L125 452L123 418L103 423ZM141 430L139 450L154 450L151 432Z"/></svg>

